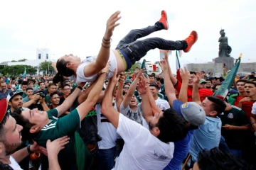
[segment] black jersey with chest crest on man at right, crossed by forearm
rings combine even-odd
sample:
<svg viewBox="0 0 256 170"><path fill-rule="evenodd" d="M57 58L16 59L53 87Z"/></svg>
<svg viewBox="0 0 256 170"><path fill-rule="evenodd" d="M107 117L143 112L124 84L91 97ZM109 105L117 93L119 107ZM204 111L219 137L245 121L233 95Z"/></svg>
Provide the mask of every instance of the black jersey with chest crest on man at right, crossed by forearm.
<svg viewBox="0 0 256 170"><path fill-rule="evenodd" d="M218 117L221 119L222 125L249 125L245 112L236 106L232 106L230 111L225 111L224 114L218 115ZM225 142L230 149L242 149L245 133L245 130L225 130L221 128L221 135L225 138Z"/></svg>

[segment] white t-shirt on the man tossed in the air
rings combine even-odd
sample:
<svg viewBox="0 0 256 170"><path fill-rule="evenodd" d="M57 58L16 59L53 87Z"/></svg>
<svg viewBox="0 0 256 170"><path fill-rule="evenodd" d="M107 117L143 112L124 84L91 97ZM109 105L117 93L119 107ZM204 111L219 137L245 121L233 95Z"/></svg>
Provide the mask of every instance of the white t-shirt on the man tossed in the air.
<svg viewBox="0 0 256 170"><path fill-rule="evenodd" d="M83 60L82 63L78 66L77 69L77 77L76 77L76 83L80 84L81 82L93 82L97 79L97 74L94 74L90 77L85 77L84 74L84 68L87 66L87 64L90 64L92 62L95 62L97 59L97 56L92 56L87 58L86 60ZM114 52L110 50L110 72L107 74L106 79L110 79L114 75L114 69L117 69L117 59L114 55ZM75 76L69 77L70 79L75 79Z"/></svg>

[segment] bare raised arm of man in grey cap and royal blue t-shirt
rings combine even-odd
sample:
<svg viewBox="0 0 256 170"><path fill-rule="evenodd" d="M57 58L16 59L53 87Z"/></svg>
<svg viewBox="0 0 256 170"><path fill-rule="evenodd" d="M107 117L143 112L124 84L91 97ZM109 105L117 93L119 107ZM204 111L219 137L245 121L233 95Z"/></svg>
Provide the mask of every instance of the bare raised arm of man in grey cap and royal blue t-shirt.
<svg viewBox="0 0 256 170"><path fill-rule="evenodd" d="M165 59L160 62L160 67L164 74L164 89L166 92L166 96L169 100L169 105L172 106L174 100L176 100L177 98L175 94L174 85L172 84L171 79L169 77L168 65L169 64L166 62Z"/></svg>

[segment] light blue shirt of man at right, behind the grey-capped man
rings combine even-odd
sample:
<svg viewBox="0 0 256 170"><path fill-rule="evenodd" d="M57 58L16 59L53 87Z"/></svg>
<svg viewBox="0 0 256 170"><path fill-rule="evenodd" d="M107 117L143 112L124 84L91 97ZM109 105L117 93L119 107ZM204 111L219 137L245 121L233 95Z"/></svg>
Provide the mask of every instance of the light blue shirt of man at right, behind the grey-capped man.
<svg viewBox="0 0 256 170"><path fill-rule="evenodd" d="M221 136L221 124L220 118L206 116L205 123L195 130L191 141L191 149L189 150L193 162L197 161L198 153L203 149L210 150L218 147Z"/></svg>

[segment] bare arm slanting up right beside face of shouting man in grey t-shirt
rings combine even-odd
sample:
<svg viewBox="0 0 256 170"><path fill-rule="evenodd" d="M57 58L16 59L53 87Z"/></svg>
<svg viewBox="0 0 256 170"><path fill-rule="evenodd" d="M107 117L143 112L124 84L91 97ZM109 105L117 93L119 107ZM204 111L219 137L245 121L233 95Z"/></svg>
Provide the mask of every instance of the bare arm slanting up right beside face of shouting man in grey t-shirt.
<svg viewBox="0 0 256 170"><path fill-rule="evenodd" d="M136 86L139 82L139 78L143 75L143 73L144 73L144 69L139 70L139 72L137 74L137 77L132 82L132 84L129 88L129 91L127 92L127 95L124 97L124 101L122 101L122 104L123 104L124 108L127 108L127 106L129 105L129 102L131 101L132 95L134 94Z"/></svg>

